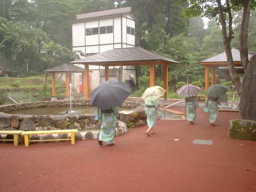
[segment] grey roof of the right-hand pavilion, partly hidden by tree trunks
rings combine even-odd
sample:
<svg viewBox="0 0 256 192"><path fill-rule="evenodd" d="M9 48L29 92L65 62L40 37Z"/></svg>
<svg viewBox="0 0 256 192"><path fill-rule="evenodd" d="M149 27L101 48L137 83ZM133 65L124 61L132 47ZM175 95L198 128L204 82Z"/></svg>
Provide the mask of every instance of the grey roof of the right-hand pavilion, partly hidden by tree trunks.
<svg viewBox="0 0 256 192"><path fill-rule="evenodd" d="M232 52L234 64L238 65L238 66L242 66L241 58L240 58L240 51L237 49L232 49L231 52ZM249 60L251 57L252 57L252 55L248 54ZM214 65L218 65L218 66L228 65L226 52L223 52L221 54L218 54L218 55L208 58L206 60L200 61L200 63L202 65L213 65L213 66Z"/></svg>

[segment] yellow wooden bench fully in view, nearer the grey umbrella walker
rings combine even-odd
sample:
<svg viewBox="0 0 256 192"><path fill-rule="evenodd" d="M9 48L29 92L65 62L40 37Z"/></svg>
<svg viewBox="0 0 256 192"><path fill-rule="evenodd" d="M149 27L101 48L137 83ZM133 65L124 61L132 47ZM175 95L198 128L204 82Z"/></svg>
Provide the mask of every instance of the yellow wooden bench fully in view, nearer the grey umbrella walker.
<svg viewBox="0 0 256 192"><path fill-rule="evenodd" d="M24 131L21 133L25 139L25 146L29 146L29 142L38 142L38 141L68 141L71 140L71 144L75 144L75 133L77 129L65 129L65 130L48 130L48 131ZM30 140L30 135L42 135L42 134L68 134L71 133L71 139L44 139L44 140Z"/></svg>

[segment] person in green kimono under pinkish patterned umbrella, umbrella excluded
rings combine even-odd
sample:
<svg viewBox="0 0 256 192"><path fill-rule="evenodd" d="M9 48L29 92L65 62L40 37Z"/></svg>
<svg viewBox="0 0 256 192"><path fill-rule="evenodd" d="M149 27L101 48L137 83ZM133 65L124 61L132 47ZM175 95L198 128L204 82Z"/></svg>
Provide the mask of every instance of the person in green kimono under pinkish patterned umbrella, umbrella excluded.
<svg viewBox="0 0 256 192"><path fill-rule="evenodd" d="M196 96L186 97L185 106L186 106L188 122L192 124L196 120L196 108L199 108L199 104Z"/></svg>

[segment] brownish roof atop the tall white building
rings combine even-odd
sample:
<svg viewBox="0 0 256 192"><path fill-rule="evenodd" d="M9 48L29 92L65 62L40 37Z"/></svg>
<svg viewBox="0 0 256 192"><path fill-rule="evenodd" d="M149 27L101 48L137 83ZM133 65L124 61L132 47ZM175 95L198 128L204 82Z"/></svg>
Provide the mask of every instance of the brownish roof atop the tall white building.
<svg viewBox="0 0 256 192"><path fill-rule="evenodd" d="M76 19L80 20L80 19L99 18L99 17L106 17L106 16L112 16L112 15L120 15L120 14L125 14L130 12L131 12L131 7L124 7L119 9L111 9L106 11L80 14L76 16Z"/></svg>

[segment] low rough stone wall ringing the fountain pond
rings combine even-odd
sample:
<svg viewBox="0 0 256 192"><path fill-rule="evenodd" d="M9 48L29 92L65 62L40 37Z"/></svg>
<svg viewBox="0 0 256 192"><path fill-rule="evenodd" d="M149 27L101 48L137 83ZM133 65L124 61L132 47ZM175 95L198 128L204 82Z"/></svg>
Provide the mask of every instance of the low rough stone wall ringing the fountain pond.
<svg viewBox="0 0 256 192"><path fill-rule="evenodd" d="M90 100L74 100L73 105L90 106ZM59 130L59 129L78 129L76 139L95 138L96 133L92 133L94 129L100 128L100 122L97 122L95 114L81 114L81 115L14 115L6 114L13 110L52 107L52 106L69 106L70 101L42 101L42 102L29 102L20 104L10 104L0 106L0 130ZM145 112L141 102L124 102L122 107L130 108L130 110L120 111L120 123L116 127L116 136L127 132L126 124L122 122L134 122L137 126L145 123ZM81 132L80 130L88 130ZM90 131L92 130L92 131ZM91 133L90 133L91 132ZM84 134L84 135L83 135ZM87 134L87 136L86 136ZM92 136L93 135L93 136ZM97 133L98 135L98 133ZM38 137L38 136L34 136ZM47 137L54 137L48 135ZM65 136L66 137L66 136Z"/></svg>

